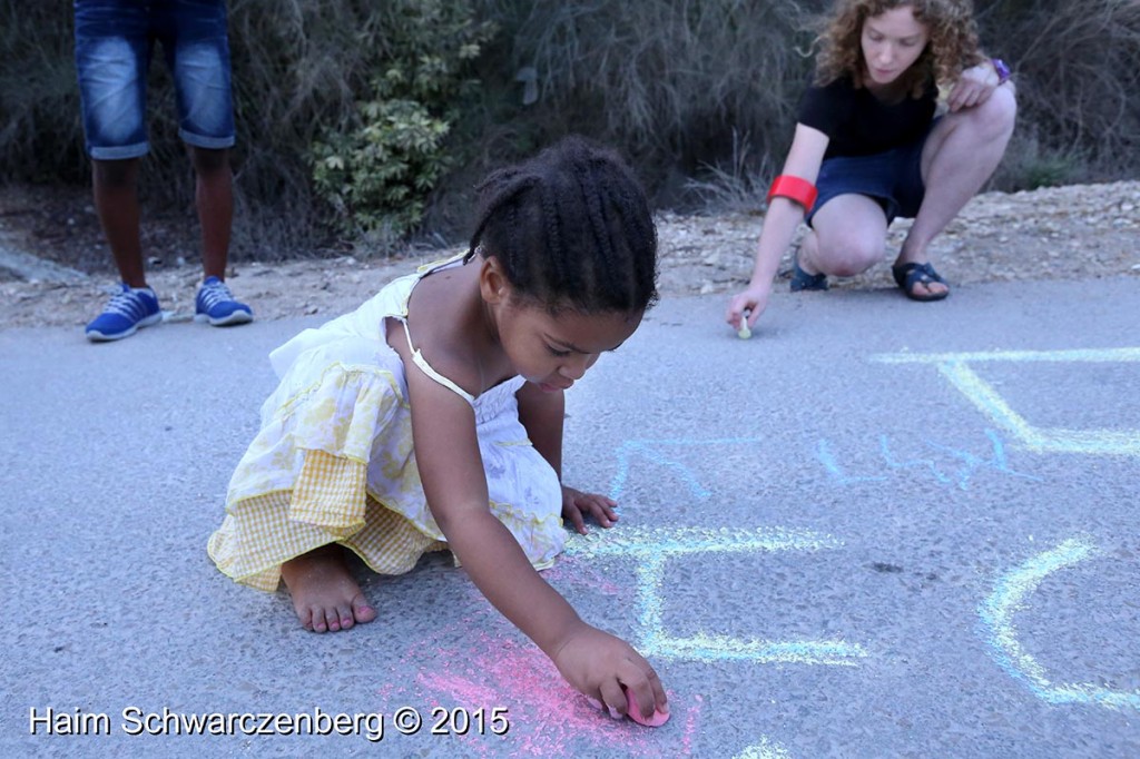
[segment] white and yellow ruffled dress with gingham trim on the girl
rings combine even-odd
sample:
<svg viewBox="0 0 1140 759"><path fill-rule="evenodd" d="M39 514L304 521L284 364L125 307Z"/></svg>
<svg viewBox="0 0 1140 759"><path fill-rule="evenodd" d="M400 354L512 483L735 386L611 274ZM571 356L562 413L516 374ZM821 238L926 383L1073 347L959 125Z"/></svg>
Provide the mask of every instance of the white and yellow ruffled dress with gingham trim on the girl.
<svg viewBox="0 0 1140 759"><path fill-rule="evenodd" d="M404 362L386 342L385 318L407 329L416 283L461 264L422 267L270 353L280 384L261 407L261 430L234 472L226 517L207 545L225 574L272 591L282 563L332 542L381 574L407 572L425 552L447 548L416 470ZM562 490L519 422L522 377L472 398L418 352L416 362L472 405L490 509L536 568L549 566L567 537Z"/></svg>

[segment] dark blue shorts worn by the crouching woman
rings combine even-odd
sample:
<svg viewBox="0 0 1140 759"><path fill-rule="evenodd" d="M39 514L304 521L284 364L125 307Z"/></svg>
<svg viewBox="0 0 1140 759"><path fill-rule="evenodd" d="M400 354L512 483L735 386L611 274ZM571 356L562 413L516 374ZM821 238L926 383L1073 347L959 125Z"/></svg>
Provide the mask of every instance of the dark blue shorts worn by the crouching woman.
<svg viewBox="0 0 1140 759"><path fill-rule="evenodd" d="M819 196L807 214L807 223L812 223L812 217L824 203L837 195L849 194L866 195L878 201L888 225L896 217L911 219L918 215L926 196L922 147L937 122L937 119L930 122L926 134L910 145L873 155L837 156L824 161L815 180Z"/></svg>

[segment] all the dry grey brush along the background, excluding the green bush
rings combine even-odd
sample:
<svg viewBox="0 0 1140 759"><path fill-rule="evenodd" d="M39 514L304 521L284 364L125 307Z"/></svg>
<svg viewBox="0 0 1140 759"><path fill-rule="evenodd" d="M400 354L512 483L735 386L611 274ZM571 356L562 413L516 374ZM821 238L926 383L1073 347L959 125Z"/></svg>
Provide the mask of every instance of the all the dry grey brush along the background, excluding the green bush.
<svg viewBox="0 0 1140 759"><path fill-rule="evenodd" d="M470 2L471 0L463 0ZM806 23L829 0L475 0L500 33L480 58L484 96L458 104L456 170L431 223L463 230L490 166L576 131L632 158L659 204L747 203L779 166L807 84ZM1019 124L999 188L1135 177L1140 2L978 0L982 40L1015 71ZM70 2L0 3L0 181L88 181ZM235 253L275 258L325 242L307 156L350 130L394 52L392 5L231 0L239 211ZM532 70L537 100L524 104ZM148 205L193 215L173 96L152 67ZM720 183L717 187L717 182Z"/></svg>

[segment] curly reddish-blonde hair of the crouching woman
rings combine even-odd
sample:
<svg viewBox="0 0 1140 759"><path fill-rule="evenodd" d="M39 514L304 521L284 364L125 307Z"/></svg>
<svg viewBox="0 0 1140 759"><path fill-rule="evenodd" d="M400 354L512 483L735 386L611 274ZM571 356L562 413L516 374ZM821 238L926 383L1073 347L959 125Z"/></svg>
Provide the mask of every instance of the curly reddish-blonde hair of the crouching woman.
<svg viewBox="0 0 1140 759"><path fill-rule="evenodd" d="M849 75L856 88L863 87L863 22L904 6L911 7L914 19L930 33L922 54L903 74L913 97L922 95L931 76L938 84L951 84L964 68L985 60L970 0L836 0L816 40L815 83L822 87Z"/></svg>

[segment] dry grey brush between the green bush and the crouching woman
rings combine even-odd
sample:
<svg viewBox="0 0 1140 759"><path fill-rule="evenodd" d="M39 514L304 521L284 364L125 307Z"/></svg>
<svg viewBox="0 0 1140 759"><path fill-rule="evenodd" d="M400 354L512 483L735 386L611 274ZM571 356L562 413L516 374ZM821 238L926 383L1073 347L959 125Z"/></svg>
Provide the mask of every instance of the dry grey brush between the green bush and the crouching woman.
<svg viewBox="0 0 1140 759"><path fill-rule="evenodd" d="M515 30L514 71L537 73L539 99L519 116L545 139L581 131L622 146L662 202L702 165L731 164L734 136L758 161L788 145L811 66L796 50L809 41L798 31L807 3L487 5Z"/></svg>

